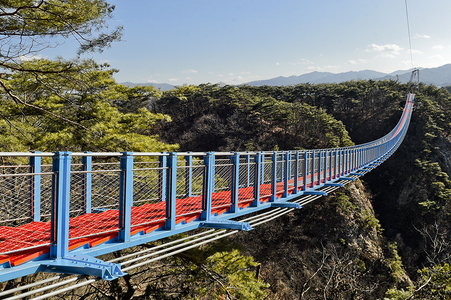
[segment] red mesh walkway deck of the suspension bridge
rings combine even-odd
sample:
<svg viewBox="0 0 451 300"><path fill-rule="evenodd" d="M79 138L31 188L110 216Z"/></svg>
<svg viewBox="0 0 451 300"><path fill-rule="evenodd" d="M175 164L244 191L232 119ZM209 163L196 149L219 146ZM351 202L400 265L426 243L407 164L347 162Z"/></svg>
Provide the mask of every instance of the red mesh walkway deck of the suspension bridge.
<svg viewBox="0 0 451 300"><path fill-rule="evenodd" d="M308 176L310 177L310 176ZM299 178L302 180L302 177ZM289 181L288 193L293 192L294 179ZM290 187L290 184L292 185ZM311 185L307 184L307 187ZM277 198L284 193L284 182L277 183ZM254 187L239 189L239 208L252 204L250 198ZM260 202L267 202L272 195L271 184L260 185ZM176 224L189 223L200 218L202 196L192 196L176 200ZM231 207L231 192L221 191L212 194L211 214L219 215ZM131 207L130 235L143 232L147 234L165 225L164 201ZM86 213L69 220L69 250L78 247L94 247L118 235L119 211L109 209L100 213ZM18 227L0 226L0 248L11 253L0 255L0 264L8 261L12 266L19 265L50 252L50 222L31 222ZM89 236L87 236L89 235ZM42 246L39 246L43 244ZM38 247L37 247L38 246ZM25 250L24 249L29 248Z"/></svg>

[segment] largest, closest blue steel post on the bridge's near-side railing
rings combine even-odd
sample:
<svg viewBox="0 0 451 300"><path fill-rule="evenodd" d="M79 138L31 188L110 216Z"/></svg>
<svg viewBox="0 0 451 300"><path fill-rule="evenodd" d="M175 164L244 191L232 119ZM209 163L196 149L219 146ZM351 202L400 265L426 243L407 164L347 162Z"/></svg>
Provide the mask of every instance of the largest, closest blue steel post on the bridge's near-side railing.
<svg viewBox="0 0 451 300"><path fill-rule="evenodd" d="M72 152L54 152L52 163L52 211L50 258L60 258L69 251L69 196Z"/></svg>

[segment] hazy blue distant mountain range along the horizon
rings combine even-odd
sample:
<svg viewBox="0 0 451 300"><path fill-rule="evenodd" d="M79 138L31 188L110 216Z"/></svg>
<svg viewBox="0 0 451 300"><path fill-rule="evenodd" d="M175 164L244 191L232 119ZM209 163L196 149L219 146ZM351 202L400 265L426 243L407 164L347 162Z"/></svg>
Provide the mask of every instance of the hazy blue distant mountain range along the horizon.
<svg viewBox="0 0 451 300"><path fill-rule="evenodd" d="M437 86L448 86L451 85L451 63L432 67L432 68L419 68L420 69L420 81L426 84L435 84ZM411 70L397 70L389 74L372 71L349 71L344 73L330 73L330 72L318 72L314 71L307 74L302 74L299 76L279 76L272 79L256 80L251 81L246 84L261 86L261 85L292 85L298 83L332 83L332 82L342 82L348 80L357 79L393 79L399 80L401 82L407 82L410 79ZM122 82L121 84L134 86L134 85L152 85L155 88L161 88L161 90L168 90L173 88L173 85L167 83L133 83L133 82Z"/></svg>

